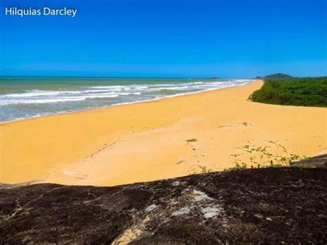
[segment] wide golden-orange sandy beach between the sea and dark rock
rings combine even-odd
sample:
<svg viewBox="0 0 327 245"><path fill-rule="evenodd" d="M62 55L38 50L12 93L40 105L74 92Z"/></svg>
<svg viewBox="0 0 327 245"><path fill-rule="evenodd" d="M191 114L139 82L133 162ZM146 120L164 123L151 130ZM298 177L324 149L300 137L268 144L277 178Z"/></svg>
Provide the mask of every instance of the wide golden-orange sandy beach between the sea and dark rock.
<svg viewBox="0 0 327 245"><path fill-rule="evenodd" d="M0 182L113 186L263 164L251 148L326 153L327 109L248 101L262 84L0 124Z"/></svg>

